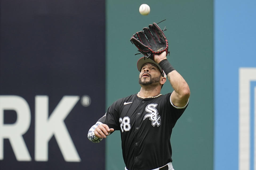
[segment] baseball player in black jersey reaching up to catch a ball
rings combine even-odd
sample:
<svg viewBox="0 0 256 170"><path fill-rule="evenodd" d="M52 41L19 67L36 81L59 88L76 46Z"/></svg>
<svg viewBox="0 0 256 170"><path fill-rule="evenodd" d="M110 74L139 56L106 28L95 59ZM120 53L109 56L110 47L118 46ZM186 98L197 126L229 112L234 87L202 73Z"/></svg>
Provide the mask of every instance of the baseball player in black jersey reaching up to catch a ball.
<svg viewBox="0 0 256 170"><path fill-rule="evenodd" d="M141 89L115 101L88 138L100 142L119 130L125 170L174 170L170 137L189 103L189 86L167 60L168 41L156 23L135 33L131 41L145 56L137 62ZM166 75L174 91L162 95Z"/></svg>

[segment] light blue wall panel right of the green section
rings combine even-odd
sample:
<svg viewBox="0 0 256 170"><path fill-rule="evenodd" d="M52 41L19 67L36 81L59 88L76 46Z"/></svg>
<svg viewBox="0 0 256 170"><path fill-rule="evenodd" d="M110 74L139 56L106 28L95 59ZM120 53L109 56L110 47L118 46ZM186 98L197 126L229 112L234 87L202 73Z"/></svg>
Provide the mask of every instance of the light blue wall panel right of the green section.
<svg viewBox="0 0 256 170"><path fill-rule="evenodd" d="M256 1L214 8L214 169L239 169L239 68L256 68Z"/></svg>

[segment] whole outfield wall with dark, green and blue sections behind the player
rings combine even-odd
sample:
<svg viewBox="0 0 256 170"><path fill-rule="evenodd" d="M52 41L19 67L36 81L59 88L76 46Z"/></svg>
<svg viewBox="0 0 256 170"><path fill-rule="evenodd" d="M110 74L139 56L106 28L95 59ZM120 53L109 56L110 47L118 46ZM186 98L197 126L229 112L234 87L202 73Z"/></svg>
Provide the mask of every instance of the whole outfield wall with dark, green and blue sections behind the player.
<svg viewBox="0 0 256 170"><path fill-rule="evenodd" d="M174 169L256 169L255 9L253 0L2 0L0 169L123 169L120 132L94 144L87 131L139 91L130 37L164 19L168 60L191 91L171 136Z"/></svg>

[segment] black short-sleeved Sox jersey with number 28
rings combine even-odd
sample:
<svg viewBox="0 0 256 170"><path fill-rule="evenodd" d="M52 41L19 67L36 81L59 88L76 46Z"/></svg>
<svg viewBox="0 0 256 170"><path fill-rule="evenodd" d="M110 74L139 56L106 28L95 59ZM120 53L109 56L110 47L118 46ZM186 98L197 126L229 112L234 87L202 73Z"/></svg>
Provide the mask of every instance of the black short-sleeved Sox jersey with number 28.
<svg viewBox="0 0 256 170"><path fill-rule="evenodd" d="M170 103L171 93L142 99L137 94L115 101L98 121L120 130L129 170L149 170L171 162L172 129L186 107Z"/></svg>

